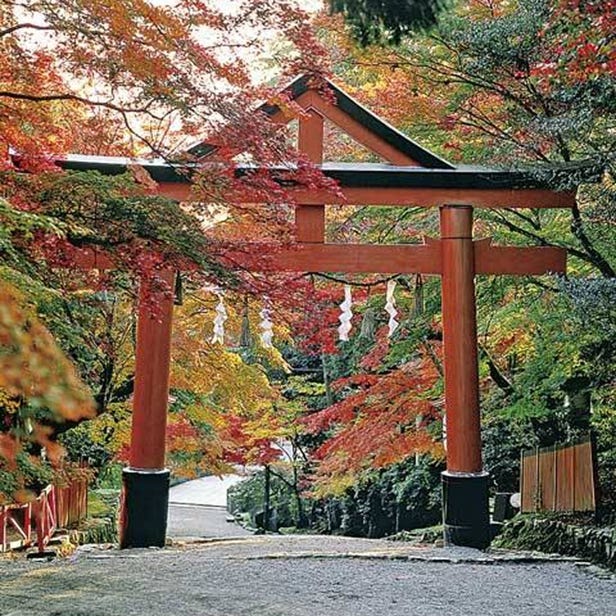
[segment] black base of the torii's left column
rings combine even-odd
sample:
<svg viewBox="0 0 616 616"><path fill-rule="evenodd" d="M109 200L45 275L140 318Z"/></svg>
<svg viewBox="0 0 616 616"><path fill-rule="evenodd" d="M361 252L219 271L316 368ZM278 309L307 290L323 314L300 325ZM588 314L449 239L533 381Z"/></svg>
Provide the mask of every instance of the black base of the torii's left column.
<svg viewBox="0 0 616 616"><path fill-rule="evenodd" d="M164 547L169 507L169 471L122 471L120 548Z"/></svg>

